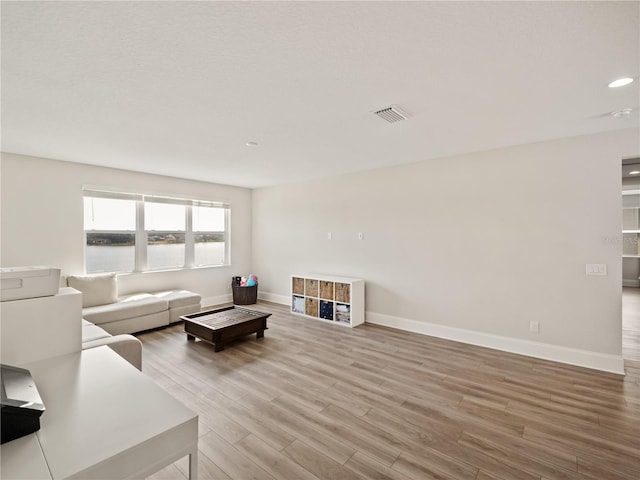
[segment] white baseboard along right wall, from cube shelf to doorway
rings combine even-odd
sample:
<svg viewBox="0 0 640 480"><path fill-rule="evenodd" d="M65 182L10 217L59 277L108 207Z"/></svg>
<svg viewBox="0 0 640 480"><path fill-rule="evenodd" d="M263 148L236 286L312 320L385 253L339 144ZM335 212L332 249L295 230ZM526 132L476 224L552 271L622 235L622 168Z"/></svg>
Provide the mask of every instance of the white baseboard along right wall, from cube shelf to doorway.
<svg viewBox="0 0 640 480"><path fill-rule="evenodd" d="M624 375L624 359L618 355L561 347L518 338L502 337L500 335L464 330L435 323L419 322L409 318L394 317L381 313L366 312L365 317L367 323L374 325L382 325L409 332L421 333L423 335L454 340L456 342L469 343L480 347L493 348L529 357Z"/></svg>

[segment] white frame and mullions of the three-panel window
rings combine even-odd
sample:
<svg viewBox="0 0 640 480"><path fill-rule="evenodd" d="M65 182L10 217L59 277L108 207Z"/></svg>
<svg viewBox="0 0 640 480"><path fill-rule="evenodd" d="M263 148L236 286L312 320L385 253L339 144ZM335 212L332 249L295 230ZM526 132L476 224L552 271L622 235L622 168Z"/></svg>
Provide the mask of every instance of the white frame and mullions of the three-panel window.
<svg viewBox="0 0 640 480"><path fill-rule="evenodd" d="M231 220L231 204L229 202L187 199L180 197L148 195L140 193L123 193L118 191L102 190L95 188L83 188L83 208L84 199L86 198L107 198L114 200L134 200L135 201L135 231L116 231L116 230L87 230L84 228L84 264L86 273L99 273L98 271L89 272L87 269L87 234L88 233L127 233L135 235L134 245L134 269L127 271L118 271L117 273L142 273L142 272L158 272L166 270L184 270L192 268L211 268L228 266L231 264L231 248L229 244L230 238L230 220ZM185 252L182 266L169 266L159 268L149 268L148 264L148 236L149 231L145 230L145 202L151 203L167 203L173 205L185 206L185 229L177 230L172 233L184 233ZM224 231L197 231L193 230L193 207L209 207L221 208L224 211ZM223 263L195 265L195 236L200 234L222 234L222 242L224 243L224 259Z"/></svg>

